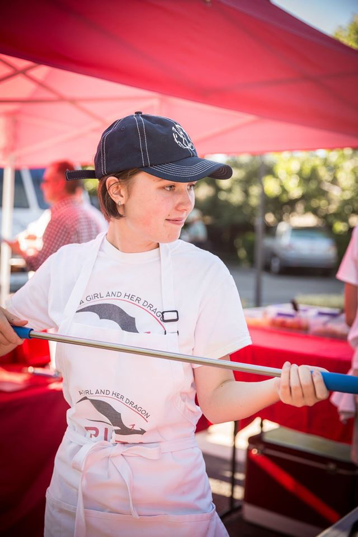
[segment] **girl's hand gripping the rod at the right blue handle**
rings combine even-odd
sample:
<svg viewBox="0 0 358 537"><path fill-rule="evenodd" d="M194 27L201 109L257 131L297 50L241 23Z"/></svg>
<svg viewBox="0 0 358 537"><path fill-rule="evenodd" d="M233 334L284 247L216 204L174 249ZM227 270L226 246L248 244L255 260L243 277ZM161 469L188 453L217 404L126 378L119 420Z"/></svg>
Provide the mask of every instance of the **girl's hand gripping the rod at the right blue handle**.
<svg viewBox="0 0 358 537"><path fill-rule="evenodd" d="M278 379L278 394L283 403L296 407L312 406L329 396L321 371L326 369L286 362ZM313 371L313 372L311 372Z"/></svg>

